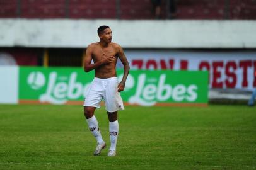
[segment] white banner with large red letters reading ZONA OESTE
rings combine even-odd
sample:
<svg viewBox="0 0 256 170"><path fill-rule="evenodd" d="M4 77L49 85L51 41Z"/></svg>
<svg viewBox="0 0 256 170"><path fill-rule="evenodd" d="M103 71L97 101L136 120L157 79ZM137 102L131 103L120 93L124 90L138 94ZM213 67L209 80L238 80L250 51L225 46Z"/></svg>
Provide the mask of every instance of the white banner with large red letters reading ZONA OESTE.
<svg viewBox="0 0 256 170"><path fill-rule="evenodd" d="M131 69L207 70L211 88L256 87L256 52L127 50L125 54Z"/></svg>

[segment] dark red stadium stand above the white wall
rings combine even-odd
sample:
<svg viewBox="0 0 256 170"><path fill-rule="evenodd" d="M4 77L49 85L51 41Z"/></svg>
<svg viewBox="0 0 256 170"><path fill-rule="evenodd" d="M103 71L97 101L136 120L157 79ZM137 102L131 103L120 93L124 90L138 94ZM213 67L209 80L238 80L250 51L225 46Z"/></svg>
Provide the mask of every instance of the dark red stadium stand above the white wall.
<svg viewBox="0 0 256 170"><path fill-rule="evenodd" d="M161 18L166 19L166 2ZM256 19L255 0L177 0L176 19ZM0 0L0 18L153 19L151 0Z"/></svg>

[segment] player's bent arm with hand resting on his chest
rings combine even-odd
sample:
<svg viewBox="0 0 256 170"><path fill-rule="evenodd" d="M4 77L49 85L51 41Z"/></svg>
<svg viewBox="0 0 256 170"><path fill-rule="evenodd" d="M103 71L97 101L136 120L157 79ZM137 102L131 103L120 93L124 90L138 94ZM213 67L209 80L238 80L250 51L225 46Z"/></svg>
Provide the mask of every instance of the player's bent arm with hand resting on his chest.
<svg viewBox="0 0 256 170"><path fill-rule="evenodd" d="M98 60L95 63L91 64L91 60L93 59L93 45L89 45L86 54L84 57L84 71L89 72L92 71L93 69L96 69L102 64L113 62L115 59L113 56L112 57L104 57L102 60Z"/></svg>

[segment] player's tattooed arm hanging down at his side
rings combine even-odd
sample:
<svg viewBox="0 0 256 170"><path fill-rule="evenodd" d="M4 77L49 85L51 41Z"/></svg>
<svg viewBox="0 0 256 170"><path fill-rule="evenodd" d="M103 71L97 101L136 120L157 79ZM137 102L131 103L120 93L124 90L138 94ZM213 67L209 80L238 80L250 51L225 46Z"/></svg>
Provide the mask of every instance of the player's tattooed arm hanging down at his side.
<svg viewBox="0 0 256 170"><path fill-rule="evenodd" d="M118 57L119 57L120 61L122 62L122 64L124 65L124 76L122 78L122 81L117 86L117 91L120 92L120 91L124 91L125 82L126 82L128 74L129 74L129 70L130 70L130 65L129 65L129 62L128 62L125 54L124 54L124 50L120 46L119 46Z"/></svg>

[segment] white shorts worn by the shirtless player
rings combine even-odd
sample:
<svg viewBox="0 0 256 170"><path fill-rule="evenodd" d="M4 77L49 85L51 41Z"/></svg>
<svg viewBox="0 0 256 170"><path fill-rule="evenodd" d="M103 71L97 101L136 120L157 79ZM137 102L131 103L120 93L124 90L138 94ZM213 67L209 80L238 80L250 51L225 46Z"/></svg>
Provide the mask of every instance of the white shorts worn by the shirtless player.
<svg viewBox="0 0 256 170"><path fill-rule="evenodd" d="M108 79L95 77L86 92L83 106L100 108L100 101L104 99L108 112L124 110L124 103L120 93L117 91L118 84L117 77Z"/></svg>

